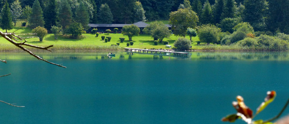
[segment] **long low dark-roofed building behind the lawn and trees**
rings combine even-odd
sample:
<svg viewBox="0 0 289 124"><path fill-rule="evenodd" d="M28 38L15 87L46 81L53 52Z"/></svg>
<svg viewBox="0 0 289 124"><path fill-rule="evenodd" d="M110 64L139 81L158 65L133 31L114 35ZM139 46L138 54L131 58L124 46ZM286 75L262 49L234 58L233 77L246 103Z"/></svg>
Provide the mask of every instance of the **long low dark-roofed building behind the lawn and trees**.
<svg viewBox="0 0 289 124"><path fill-rule="evenodd" d="M143 28L145 28L148 25L147 23L141 21L133 24L139 27L141 29L141 32ZM88 24L88 26L90 27L89 31L91 31L93 28L97 28L97 32L105 32L105 30L107 29L110 29L113 32L113 29L115 28L118 29L117 32L121 32L121 29L122 27L124 27L124 25L132 25L132 24ZM169 29L171 29L171 25L166 26L169 27Z"/></svg>

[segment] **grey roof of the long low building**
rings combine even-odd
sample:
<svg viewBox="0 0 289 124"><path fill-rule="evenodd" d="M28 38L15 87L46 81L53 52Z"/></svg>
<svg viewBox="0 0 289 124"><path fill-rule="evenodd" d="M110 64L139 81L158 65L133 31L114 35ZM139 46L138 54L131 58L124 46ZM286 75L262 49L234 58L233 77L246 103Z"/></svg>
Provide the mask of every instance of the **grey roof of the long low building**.
<svg viewBox="0 0 289 124"><path fill-rule="evenodd" d="M137 22L133 23L134 25L137 25L137 27L146 27L148 24L144 22ZM124 27L124 25L132 25L132 24L88 24L89 27ZM167 27L171 27L171 25L167 25Z"/></svg>

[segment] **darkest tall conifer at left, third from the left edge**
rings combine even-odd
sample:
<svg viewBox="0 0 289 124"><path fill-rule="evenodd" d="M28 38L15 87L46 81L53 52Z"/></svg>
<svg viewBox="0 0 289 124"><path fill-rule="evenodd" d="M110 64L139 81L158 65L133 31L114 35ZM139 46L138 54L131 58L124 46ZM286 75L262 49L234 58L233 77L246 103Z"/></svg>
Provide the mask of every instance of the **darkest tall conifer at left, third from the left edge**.
<svg viewBox="0 0 289 124"><path fill-rule="evenodd" d="M44 10L44 27L50 31L51 26L56 25L57 12L55 0L49 0Z"/></svg>

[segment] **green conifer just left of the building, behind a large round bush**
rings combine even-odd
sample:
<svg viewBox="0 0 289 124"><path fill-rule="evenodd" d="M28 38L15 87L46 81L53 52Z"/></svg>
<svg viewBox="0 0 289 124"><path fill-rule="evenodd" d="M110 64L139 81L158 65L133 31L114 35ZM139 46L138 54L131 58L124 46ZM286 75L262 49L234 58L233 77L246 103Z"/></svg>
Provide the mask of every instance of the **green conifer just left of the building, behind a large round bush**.
<svg viewBox="0 0 289 124"><path fill-rule="evenodd" d="M87 12L86 6L83 4L83 2L80 2L78 9L75 12L75 21L77 23L81 23L84 29L88 26L89 23L89 15Z"/></svg>

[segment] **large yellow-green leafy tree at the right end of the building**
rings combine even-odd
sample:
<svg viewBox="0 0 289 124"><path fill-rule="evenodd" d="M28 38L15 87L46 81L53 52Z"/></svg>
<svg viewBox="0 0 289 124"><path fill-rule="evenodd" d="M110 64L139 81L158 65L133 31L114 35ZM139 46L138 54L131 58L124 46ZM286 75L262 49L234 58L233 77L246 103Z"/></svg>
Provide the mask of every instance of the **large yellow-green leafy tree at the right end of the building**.
<svg viewBox="0 0 289 124"><path fill-rule="evenodd" d="M170 13L169 23L172 25L174 35L185 36L188 27L195 28L199 18L193 10L178 9Z"/></svg>

